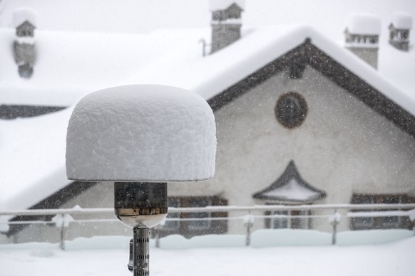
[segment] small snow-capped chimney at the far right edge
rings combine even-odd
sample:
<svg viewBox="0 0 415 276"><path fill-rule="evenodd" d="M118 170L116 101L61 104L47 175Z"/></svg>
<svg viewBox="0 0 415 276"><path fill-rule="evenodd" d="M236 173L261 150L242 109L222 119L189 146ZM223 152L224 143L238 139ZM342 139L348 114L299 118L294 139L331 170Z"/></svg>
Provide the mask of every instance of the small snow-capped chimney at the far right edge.
<svg viewBox="0 0 415 276"><path fill-rule="evenodd" d="M389 25L389 43L402 51L409 51L409 31L412 28L410 14L396 13Z"/></svg>

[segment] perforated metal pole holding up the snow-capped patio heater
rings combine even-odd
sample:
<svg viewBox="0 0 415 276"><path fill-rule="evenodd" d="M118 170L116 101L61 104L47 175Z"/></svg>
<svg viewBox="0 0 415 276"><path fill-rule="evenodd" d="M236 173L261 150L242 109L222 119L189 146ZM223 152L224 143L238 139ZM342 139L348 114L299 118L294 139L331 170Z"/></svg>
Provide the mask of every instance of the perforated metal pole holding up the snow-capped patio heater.
<svg viewBox="0 0 415 276"><path fill-rule="evenodd" d="M150 254L148 250L148 228L138 228L136 225L133 228L133 264L134 276L148 276L150 275Z"/></svg>

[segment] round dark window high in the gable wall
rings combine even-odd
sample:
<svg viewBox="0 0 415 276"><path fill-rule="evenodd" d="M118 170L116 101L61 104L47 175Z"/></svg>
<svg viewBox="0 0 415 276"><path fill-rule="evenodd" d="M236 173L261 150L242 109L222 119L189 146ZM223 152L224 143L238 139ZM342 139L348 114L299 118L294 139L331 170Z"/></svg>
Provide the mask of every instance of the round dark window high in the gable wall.
<svg viewBox="0 0 415 276"><path fill-rule="evenodd" d="M275 116L284 127L292 129L304 122L307 115L307 102L297 92L281 95L275 106Z"/></svg>

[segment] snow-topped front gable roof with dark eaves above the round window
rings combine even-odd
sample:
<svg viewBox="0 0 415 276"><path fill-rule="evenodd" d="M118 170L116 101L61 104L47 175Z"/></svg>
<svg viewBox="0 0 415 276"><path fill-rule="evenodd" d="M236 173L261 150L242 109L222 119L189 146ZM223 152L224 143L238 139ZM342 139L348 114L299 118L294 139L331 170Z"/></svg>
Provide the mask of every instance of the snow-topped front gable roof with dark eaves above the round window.
<svg viewBox="0 0 415 276"><path fill-rule="evenodd" d="M274 36L270 37L270 33ZM261 28L232 47L198 60L189 66L190 70L183 68L181 78L175 75L175 80L166 78L163 84L180 86L183 84L180 79L188 78L187 87L205 97L212 109L217 110L293 64L319 70L398 127L415 135L415 95L399 90L352 52L309 27Z"/></svg>

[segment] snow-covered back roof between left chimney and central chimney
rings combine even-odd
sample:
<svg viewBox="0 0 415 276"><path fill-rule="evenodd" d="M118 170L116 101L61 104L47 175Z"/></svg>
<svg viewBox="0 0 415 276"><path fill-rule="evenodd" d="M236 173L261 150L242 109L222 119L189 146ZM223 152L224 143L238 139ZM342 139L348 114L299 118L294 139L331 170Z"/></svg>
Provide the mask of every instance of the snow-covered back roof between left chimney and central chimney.
<svg viewBox="0 0 415 276"><path fill-rule="evenodd" d="M150 34L36 31L34 74L22 79L11 45L13 29L0 29L0 105L69 106L96 90L142 83L147 70L200 55L205 32L157 31ZM177 39L178 42L174 42ZM141 72L144 71L144 72Z"/></svg>

